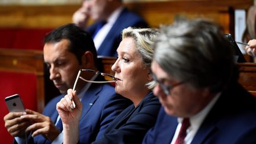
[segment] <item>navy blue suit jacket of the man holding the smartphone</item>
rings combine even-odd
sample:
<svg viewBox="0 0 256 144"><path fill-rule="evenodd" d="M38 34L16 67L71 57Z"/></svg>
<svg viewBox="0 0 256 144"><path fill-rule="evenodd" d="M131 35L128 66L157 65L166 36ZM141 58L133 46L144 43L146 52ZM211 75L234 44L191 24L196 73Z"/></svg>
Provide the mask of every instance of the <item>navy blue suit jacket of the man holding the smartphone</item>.
<svg viewBox="0 0 256 144"><path fill-rule="evenodd" d="M64 95L53 98L44 108L43 114L56 123L56 104ZM105 128L132 102L115 94L109 84L92 84L82 98L83 110L79 121L79 142L91 143L102 136ZM31 143L49 143L42 135L30 139Z"/></svg>

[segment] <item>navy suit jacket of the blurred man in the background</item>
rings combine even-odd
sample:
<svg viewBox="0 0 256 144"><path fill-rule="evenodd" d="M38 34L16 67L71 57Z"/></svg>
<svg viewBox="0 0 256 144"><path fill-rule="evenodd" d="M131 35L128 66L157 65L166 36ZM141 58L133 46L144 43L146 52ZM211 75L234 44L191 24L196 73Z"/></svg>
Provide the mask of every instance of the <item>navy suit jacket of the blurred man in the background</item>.
<svg viewBox="0 0 256 144"><path fill-rule="evenodd" d="M88 27L87 31L91 35L94 34L97 24L95 23ZM139 15L124 8L97 50L98 56L117 56L116 50L121 41L121 31L127 27L148 27L148 24Z"/></svg>

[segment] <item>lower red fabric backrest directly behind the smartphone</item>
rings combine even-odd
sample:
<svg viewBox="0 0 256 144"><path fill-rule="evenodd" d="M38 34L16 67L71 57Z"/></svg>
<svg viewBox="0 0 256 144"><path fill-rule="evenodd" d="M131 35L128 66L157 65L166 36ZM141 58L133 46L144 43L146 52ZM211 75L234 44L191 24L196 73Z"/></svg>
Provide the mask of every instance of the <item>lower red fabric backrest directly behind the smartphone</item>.
<svg viewBox="0 0 256 144"><path fill-rule="evenodd" d="M3 143L12 143L13 137L4 126L4 116L8 114L5 97L20 94L25 108L37 111L36 75L30 73L0 72L0 136Z"/></svg>

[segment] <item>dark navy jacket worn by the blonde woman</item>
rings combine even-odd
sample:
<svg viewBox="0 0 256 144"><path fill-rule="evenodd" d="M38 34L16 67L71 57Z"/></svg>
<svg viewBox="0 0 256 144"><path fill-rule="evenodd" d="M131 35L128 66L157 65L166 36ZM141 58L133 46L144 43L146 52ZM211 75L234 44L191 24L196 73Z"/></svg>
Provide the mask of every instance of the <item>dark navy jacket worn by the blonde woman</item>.
<svg viewBox="0 0 256 144"><path fill-rule="evenodd" d="M146 132L153 127L161 104L158 98L150 92L135 108L127 107L105 130L103 137L95 143L142 143Z"/></svg>

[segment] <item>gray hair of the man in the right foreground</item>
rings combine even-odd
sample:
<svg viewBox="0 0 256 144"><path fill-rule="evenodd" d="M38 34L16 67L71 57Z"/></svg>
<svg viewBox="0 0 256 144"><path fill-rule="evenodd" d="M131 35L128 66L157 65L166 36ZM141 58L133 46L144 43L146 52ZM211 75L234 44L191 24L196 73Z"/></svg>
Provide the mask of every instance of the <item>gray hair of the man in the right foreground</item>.
<svg viewBox="0 0 256 144"><path fill-rule="evenodd" d="M219 92L235 73L233 49L219 25L180 20L160 28L153 59L169 75L194 88Z"/></svg>

